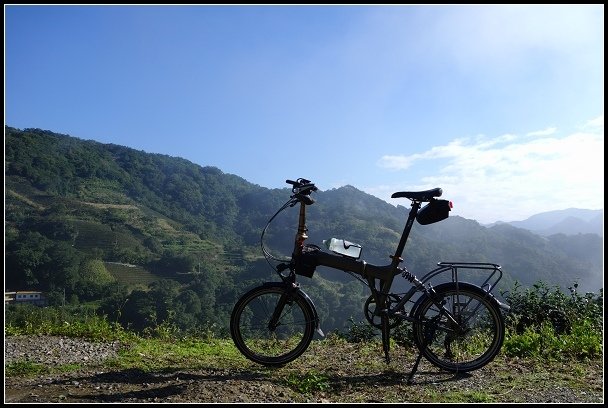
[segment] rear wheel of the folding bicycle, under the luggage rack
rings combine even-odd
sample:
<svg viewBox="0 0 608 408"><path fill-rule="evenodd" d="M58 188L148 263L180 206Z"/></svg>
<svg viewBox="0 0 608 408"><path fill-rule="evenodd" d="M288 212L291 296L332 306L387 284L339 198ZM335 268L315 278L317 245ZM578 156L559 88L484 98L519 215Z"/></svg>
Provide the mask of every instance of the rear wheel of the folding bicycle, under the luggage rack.
<svg viewBox="0 0 608 408"><path fill-rule="evenodd" d="M423 296L414 306L414 341L434 366L450 372L477 370L500 351L505 323L496 300L470 283L444 283L435 288L435 302ZM436 302L449 310L458 328Z"/></svg>

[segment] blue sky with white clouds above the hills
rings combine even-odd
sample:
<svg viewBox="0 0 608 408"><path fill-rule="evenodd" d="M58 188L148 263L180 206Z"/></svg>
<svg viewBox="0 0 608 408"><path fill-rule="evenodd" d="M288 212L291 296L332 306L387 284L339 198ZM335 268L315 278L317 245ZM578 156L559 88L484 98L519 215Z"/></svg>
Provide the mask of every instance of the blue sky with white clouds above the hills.
<svg viewBox="0 0 608 408"><path fill-rule="evenodd" d="M481 223L604 206L603 5L4 11L7 126Z"/></svg>

